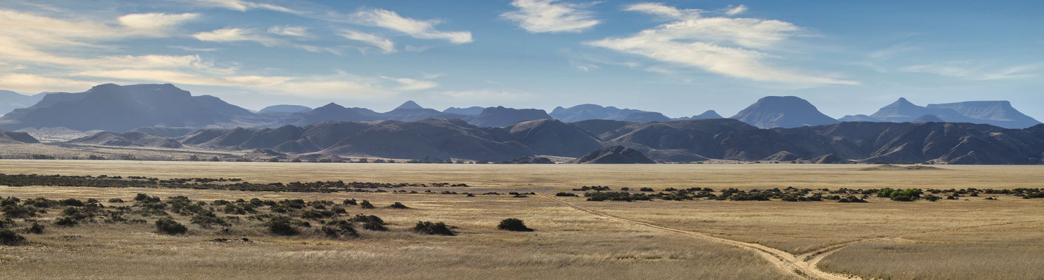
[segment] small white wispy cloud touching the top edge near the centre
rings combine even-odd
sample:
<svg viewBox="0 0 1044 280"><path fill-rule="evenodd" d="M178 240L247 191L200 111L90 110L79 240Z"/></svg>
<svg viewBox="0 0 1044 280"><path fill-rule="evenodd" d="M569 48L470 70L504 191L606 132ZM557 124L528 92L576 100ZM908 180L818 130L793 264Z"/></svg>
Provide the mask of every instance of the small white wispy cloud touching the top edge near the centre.
<svg viewBox="0 0 1044 280"><path fill-rule="evenodd" d="M518 23L530 33L582 32L601 23L594 19L590 4L562 3L556 0L515 0L516 11L500 17Z"/></svg>

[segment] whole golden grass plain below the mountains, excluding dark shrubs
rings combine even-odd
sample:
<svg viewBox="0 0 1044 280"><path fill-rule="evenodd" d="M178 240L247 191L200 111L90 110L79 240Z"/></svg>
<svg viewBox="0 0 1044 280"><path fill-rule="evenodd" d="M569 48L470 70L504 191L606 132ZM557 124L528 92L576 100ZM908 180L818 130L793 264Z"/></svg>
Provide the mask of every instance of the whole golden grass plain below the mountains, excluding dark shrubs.
<svg viewBox="0 0 1044 280"><path fill-rule="evenodd" d="M582 185L664 187L1041 187L1044 167L936 166L863 171L856 164L410 164L0 160L0 173L226 177L252 182L315 180L468 183L432 192L538 192ZM421 190L423 187L411 187ZM412 209L349 208L377 214L390 231L331 240L277 237L248 225L232 235L189 225L167 236L151 224L49 227L30 245L0 247L0 275L22 278L355 278L373 279L794 279L749 249L621 223L543 196L296 194L228 190L5 187L0 197L127 200L137 193L193 200L300 198L401 201ZM763 245L820 270L882 279L1040 279L1044 200L996 196L958 201L870 203L782 201L587 202L583 209L686 232ZM992 196L990 196L992 197ZM179 218L188 225L186 219ZM518 218L535 232L496 230ZM445 222L458 236L410 233L417 221ZM151 221L150 221L151 222ZM250 237L253 243L213 243ZM848 243L852 243L849 245ZM831 249L834 245L847 245ZM805 275L807 276L807 275Z"/></svg>

